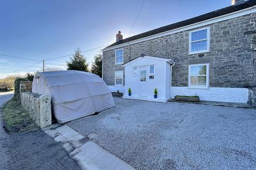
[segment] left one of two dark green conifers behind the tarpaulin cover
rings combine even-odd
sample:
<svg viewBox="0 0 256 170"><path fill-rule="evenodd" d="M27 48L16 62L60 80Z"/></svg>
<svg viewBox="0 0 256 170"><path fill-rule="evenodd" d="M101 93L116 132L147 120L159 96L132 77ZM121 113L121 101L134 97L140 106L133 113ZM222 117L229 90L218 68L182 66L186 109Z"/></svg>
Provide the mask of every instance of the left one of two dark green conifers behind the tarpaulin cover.
<svg viewBox="0 0 256 170"><path fill-rule="evenodd" d="M86 59L81 54L81 50L78 48L75 50L73 57L70 57L70 61L67 62L68 70L88 71L88 64Z"/></svg>

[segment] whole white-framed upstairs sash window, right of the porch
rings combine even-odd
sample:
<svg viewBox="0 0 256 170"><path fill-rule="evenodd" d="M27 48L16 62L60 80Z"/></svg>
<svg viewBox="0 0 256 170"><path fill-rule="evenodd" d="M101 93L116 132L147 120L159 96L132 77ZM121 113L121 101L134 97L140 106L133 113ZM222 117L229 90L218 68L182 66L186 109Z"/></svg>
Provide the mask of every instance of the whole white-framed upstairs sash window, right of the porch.
<svg viewBox="0 0 256 170"><path fill-rule="evenodd" d="M209 27L189 32L189 54L209 52Z"/></svg>

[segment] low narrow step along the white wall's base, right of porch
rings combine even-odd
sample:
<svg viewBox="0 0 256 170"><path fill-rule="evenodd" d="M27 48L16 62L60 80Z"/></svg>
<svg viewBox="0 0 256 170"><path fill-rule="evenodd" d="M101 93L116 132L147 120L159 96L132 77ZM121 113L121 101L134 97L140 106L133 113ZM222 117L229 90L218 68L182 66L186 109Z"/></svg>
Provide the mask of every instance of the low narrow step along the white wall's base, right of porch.
<svg viewBox="0 0 256 170"><path fill-rule="evenodd" d="M177 100L174 100L174 99L169 99L168 101L179 102L179 103L193 103L193 104L202 104L202 105L214 105L214 106L253 108L251 105L249 105L247 103L231 103L231 102L205 101L205 100L199 100L199 102L193 102L193 101L177 101Z"/></svg>

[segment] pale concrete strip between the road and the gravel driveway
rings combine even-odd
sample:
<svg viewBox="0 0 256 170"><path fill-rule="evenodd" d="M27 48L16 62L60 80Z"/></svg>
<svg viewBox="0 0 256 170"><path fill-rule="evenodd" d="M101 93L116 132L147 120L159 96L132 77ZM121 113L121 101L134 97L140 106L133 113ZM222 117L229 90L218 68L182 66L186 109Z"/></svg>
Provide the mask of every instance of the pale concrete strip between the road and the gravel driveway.
<svg viewBox="0 0 256 170"><path fill-rule="evenodd" d="M63 143L62 147L82 169L135 169L91 141L91 139L97 137L97 134L93 133L84 137L68 125L60 124L53 124L42 130L56 142Z"/></svg>

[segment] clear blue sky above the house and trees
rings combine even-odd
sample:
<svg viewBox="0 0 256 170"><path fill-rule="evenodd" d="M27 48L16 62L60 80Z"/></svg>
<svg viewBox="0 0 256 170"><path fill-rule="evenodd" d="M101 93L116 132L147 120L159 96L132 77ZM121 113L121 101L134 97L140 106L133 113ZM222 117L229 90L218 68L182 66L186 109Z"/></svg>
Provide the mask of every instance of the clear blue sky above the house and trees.
<svg viewBox="0 0 256 170"><path fill-rule="evenodd" d="M33 60L0 55L0 78L41 71L43 64L37 61L70 55L77 48L85 51L115 43L119 30L129 37L142 2L0 0L0 54ZM145 0L131 36L230 4L230 0ZM83 53L89 65L102 48ZM65 70L67 61L69 57L45 61L45 66Z"/></svg>

